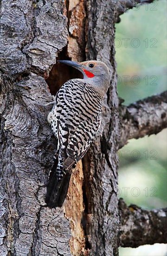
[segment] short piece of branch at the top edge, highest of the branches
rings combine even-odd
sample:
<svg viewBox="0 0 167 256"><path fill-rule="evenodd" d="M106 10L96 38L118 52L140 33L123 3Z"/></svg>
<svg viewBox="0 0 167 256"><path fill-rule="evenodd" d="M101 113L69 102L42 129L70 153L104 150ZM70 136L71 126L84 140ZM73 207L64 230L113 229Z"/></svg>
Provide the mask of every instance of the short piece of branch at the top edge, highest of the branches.
<svg viewBox="0 0 167 256"><path fill-rule="evenodd" d="M137 4L149 4L154 0L116 0L116 23L121 21L119 15L125 13L128 9L136 7Z"/></svg>

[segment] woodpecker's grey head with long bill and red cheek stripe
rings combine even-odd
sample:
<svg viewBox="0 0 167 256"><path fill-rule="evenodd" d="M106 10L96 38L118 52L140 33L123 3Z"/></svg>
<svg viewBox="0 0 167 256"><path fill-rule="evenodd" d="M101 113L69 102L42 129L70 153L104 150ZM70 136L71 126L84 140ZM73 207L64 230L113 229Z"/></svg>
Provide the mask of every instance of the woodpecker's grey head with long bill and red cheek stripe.
<svg viewBox="0 0 167 256"><path fill-rule="evenodd" d="M83 79L88 83L103 88L107 92L109 88L109 68L102 61L58 61L60 63L77 68L83 74Z"/></svg>

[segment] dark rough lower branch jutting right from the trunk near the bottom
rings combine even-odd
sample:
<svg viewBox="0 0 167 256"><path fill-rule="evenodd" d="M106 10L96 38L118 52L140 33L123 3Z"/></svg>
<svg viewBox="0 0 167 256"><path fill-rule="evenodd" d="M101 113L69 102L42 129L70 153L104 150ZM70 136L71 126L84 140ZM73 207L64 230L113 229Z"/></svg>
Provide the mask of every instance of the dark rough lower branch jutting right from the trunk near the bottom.
<svg viewBox="0 0 167 256"><path fill-rule="evenodd" d="M119 201L121 220L120 246L167 243L167 209L144 210Z"/></svg>

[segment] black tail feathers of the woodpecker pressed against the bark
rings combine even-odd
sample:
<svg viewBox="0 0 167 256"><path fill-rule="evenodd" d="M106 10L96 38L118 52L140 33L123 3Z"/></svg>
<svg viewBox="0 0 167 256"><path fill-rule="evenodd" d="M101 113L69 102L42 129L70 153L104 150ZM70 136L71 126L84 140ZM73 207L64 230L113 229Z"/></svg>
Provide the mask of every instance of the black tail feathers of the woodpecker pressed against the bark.
<svg viewBox="0 0 167 256"><path fill-rule="evenodd" d="M71 178L71 173L67 171L61 180L58 179L56 172L57 165L58 161L56 160L51 168L45 199L46 204L51 208L61 207L63 205Z"/></svg>

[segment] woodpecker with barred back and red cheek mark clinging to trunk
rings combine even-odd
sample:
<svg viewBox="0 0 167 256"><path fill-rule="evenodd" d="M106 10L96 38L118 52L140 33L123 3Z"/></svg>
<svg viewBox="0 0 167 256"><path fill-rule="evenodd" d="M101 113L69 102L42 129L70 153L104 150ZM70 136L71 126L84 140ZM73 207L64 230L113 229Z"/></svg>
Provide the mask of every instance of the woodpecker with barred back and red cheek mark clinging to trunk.
<svg viewBox="0 0 167 256"><path fill-rule="evenodd" d="M48 122L58 138L47 185L46 204L61 207L71 171L85 155L101 123L103 98L110 83L109 68L101 61L58 61L77 68L83 79L64 83L55 97Z"/></svg>

